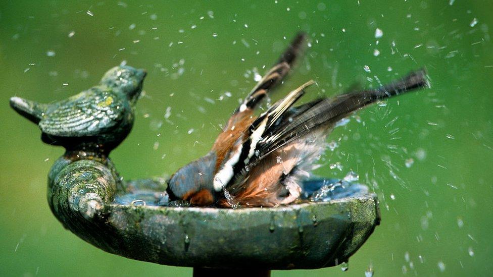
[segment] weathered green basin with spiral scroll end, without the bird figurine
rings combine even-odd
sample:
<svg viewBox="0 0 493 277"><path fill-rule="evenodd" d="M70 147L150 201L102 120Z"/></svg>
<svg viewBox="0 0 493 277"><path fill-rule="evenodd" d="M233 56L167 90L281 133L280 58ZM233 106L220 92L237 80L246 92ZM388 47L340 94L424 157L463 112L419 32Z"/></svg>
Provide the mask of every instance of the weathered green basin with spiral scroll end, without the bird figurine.
<svg viewBox="0 0 493 277"><path fill-rule="evenodd" d="M55 171L66 162L67 157L61 157ZM271 269L335 266L348 261L380 221L376 196L355 193L351 185L338 192L341 198L326 202L274 208L170 207L160 206L167 201L164 179L85 183L104 180L99 173L114 170L111 163L108 168L90 163L55 178L50 174L48 202L64 227L107 252L193 267L194 276L268 275Z"/></svg>

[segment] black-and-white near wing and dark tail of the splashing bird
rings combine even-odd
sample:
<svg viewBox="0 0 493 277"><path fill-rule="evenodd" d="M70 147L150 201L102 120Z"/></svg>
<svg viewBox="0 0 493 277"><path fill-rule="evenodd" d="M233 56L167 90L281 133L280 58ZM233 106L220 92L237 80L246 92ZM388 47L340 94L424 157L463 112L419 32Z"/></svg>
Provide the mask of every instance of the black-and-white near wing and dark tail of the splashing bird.
<svg viewBox="0 0 493 277"><path fill-rule="evenodd" d="M425 70L420 70L377 89L319 98L292 107L303 96L304 89L311 84L313 81L292 91L253 122L249 136L243 142L242 153L234 166L234 177L228 186L241 186L248 179L249 171L273 151L315 131L323 130L322 133L326 133L324 130L329 130L339 120L368 104L413 89L429 87Z"/></svg>

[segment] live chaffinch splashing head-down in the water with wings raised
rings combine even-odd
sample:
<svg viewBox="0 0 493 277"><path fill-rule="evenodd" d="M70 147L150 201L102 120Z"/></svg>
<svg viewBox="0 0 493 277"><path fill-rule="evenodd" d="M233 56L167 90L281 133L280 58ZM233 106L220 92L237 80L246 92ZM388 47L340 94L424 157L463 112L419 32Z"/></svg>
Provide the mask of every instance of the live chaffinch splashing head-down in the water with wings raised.
<svg viewBox="0 0 493 277"><path fill-rule="evenodd" d="M294 106L315 83L312 80L256 116L259 102L280 84L305 41L305 34L294 38L234 111L212 150L171 176L171 199L233 208L289 204L299 199L302 181L314 169L327 147L327 135L339 120L375 101L429 86L425 70L419 70L377 89Z"/></svg>

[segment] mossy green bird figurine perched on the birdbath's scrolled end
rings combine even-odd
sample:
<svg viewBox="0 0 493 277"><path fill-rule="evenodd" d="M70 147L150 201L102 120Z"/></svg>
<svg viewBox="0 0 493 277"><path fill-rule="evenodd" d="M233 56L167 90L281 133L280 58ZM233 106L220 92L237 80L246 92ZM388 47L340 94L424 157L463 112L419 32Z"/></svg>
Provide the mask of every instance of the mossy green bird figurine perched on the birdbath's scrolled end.
<svg viewBox="0 0 493 277"><path fill-rule="evenodd" d="M109 153L132 128L145 75L144 70L120 65L106 72L97 86L67 99L44 104L12 97L10 105L39 126L45 143Z"/></svg>

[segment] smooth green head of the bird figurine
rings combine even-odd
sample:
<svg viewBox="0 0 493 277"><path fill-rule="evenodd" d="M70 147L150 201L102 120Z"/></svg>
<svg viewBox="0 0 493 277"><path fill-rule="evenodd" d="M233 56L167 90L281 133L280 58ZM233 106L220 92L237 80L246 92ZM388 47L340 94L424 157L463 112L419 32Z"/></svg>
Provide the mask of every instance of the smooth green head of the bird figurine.
<svg viewBox="0 0 493 277"><path fill-rule="evenodd" d="M125 93L131 102L135 102L142 91L146 74L143 69L120 65L106 72L101 84Z"/></svg>

